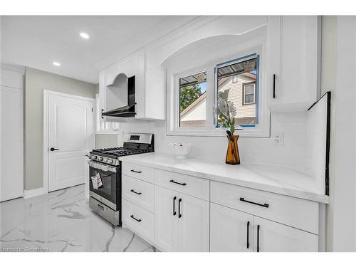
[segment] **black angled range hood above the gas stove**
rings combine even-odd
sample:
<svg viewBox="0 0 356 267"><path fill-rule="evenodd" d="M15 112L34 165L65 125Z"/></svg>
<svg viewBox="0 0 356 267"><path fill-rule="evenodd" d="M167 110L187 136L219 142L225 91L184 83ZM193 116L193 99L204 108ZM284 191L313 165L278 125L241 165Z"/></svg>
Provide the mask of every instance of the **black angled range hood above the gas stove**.
<svg viewBox="0 0 356 267"><path fill-rule="evenodd" d="M103 112L103 116L110 117L135 117L135 76L127 78L127 105Z"/></svg>

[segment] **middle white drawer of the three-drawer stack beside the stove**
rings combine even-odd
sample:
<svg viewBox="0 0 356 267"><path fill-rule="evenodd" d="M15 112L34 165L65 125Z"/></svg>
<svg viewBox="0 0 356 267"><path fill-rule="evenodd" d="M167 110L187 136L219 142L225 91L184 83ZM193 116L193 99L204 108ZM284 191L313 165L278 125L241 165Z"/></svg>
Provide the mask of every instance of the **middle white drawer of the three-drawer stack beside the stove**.
<svg viewBox="0 0 356 267"><path fill-rule="evenodd" d="M122 198L154 212L155 185L122 175Z"/></svg>

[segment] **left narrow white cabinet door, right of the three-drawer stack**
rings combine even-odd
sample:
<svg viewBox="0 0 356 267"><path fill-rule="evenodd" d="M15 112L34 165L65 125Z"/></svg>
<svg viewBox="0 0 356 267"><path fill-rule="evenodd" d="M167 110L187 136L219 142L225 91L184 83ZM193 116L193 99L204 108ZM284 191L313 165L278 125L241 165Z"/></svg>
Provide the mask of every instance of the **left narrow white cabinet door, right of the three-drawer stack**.
<svg viewBox="0 0 356 267"><path fill-rule="evenodd" d="M159 250L177 251L179 194L157 186L155 191L155 244Z"/></svg>

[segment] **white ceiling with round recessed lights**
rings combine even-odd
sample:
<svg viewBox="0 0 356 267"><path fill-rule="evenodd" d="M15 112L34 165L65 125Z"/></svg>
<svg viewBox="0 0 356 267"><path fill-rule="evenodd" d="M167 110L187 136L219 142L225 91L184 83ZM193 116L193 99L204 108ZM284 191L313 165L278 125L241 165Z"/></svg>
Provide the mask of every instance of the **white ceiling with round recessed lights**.
<svg viewBox="0 0 356 267"><path fill-rule="evenodd" d="M99 70L120 58L120 51L133 52L194 19L197 17L1 16L1 62L98 83ZM82 31L90 35L88 40L79 36ZM61 66L53 66L53 61Z"/></svg>

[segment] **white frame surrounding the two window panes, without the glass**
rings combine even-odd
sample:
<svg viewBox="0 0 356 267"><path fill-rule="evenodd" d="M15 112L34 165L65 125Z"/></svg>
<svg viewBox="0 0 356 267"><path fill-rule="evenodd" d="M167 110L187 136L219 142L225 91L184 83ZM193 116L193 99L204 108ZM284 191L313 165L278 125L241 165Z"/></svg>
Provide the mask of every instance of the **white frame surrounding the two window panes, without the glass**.
<svg viewBox="0 0 356 267"><path fill-rule="evenodd" d="M266 80L266 60L264 58L265 46L259 45L240 53L235 53L229 57L218 58L200 66L186 68L184 70L167 69L167 135L177 136L224 136L226 131L223 128L216 128L216 114L214 110L217 102L217 73L216 66L226 62L226 66L231 65L234 58L243 58L246 55L256 53L259 55L258 73L258 125L255 127L244 127L236 132L241 137L270 137L270 110L268 109L268 83ZM239 62L239 61L235 61ZM205 127L179 127L179 78L194 75L206 71L206 126ZM256 85L255 85L256 102Z"/></svg>

